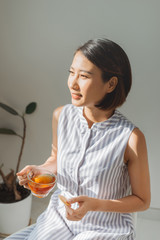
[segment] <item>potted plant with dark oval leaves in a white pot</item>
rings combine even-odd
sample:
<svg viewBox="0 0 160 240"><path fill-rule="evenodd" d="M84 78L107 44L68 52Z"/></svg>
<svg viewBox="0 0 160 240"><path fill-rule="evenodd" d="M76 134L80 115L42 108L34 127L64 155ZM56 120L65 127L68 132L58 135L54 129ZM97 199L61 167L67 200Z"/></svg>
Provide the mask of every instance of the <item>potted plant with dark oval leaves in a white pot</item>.
<svg viewBox="0 0 160 240"><path fill-rule="evenodd" d="M21 134L9 128L0 128L0 134L12 135L21 139L20 152L15 170L11 169L5 175L2 170L3 163L0 165L0 175L2 178L2 183L0 183L0 234L1 236L6 236L26 227L30 221L31 193L28 189L18 184L16 173L19 171L26 138L25 117L36 110L37 104L35 102L28 104L23 114L19 114L15 109L1 102L0 107L8 113L20 117L23 124Z"/></svg>

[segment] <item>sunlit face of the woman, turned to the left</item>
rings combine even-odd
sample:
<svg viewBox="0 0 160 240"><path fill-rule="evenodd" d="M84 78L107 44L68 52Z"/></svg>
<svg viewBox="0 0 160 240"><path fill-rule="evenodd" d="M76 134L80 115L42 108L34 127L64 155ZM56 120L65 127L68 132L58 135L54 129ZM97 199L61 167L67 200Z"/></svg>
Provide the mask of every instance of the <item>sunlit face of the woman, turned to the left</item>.
<svg viewBox="0 0 160 240"><path fill-rule="evenodd" d="M107 83L101 75L101 70L81 51L75 54L68 77L73 105L94 107L106 95Z"/></svg>

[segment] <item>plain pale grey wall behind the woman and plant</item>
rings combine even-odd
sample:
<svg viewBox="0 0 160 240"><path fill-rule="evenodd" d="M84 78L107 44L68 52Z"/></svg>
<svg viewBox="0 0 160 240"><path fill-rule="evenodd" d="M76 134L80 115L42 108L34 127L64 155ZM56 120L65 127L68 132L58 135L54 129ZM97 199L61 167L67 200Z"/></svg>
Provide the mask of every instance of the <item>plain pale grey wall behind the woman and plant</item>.
<svg viewBox="0 0 160 240"><path fill-rule="evenodd" d="M127 52L133 87L122 111L144 132L148 144L152 207L160 208L160 81L158 0L1 0L0 101L20 112L31 102L21 168L50 154L52 111L70 102L68 68L86 40L107 37ZM17 118L0 109L0 127L20 131ZM20 142L0 136L0 163L15 168Z"/></svg>

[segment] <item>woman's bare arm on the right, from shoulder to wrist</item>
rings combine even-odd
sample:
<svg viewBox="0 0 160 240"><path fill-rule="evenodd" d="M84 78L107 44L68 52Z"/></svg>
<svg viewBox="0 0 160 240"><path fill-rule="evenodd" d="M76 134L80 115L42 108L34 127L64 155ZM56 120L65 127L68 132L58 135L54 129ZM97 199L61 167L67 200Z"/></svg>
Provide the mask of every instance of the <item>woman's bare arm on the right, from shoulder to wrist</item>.
<svg viewBox="0 0 160 240"><path fill-rule="evenodd" d="M125 161L131 182L132 195L118 200L101 200L100 211L137 212L150 205L150 177L146 141L139 129L132 132L125 152Z"/></svg>

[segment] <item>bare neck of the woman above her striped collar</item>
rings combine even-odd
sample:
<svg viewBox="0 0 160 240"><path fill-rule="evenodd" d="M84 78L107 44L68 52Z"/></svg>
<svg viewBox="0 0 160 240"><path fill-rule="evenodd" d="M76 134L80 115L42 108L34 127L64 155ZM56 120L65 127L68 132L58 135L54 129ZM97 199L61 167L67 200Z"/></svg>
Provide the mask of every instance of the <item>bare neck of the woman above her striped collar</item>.
<svg viewBox="0 0 160 240"><path fill-rule="evenodd" d="M89 107L84 107L83 108L83 116L88 122L89 128L92 127L92 125L96 122L104 122L107 119L109 119L115 109L111 110L100 110L98 108L89 108Z"/></svg>

